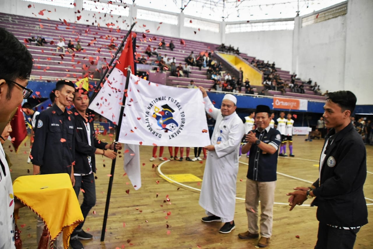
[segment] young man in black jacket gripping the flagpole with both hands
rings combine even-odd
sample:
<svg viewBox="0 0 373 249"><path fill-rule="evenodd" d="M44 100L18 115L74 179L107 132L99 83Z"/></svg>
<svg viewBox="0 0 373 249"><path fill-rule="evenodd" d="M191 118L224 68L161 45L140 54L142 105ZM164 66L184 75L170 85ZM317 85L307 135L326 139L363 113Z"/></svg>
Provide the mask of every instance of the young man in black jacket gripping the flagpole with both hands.
<svg viewBox="0 0 373 249"><path fill-rule="evenodd" d="M91 208L96 203L96 190L93 175L93 173L96 172L94 155L99 154L114 159L116 157L116 152L113 151L114 144L107 144L95 137L93 119L88 116L86 112L89 105L88 92L84 89L77 89L75 91L73 104L75 108L71 111L73 116L75 116L76 126L74 190L76 196L78 196L79 191L82 189L83 203L80 208L85 221ZM117 144L116 148L120 149L120 144ZM78 239L92 239L91 234L82 230L84 221L79 224L71 234L70 245L73 249L82 248L82 244Z"/></svg>

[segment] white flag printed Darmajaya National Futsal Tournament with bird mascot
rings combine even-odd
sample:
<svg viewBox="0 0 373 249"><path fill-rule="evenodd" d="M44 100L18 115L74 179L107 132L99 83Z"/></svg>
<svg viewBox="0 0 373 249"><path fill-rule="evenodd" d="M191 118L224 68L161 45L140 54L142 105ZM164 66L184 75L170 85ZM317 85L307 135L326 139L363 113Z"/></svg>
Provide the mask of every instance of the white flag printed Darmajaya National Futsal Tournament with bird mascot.
<svg viewBox="0 0 373 249"><path fill-rule="evenodd" d="M202 92L152 83L131 74L119 142L179 147L209 145Z"/></svg>

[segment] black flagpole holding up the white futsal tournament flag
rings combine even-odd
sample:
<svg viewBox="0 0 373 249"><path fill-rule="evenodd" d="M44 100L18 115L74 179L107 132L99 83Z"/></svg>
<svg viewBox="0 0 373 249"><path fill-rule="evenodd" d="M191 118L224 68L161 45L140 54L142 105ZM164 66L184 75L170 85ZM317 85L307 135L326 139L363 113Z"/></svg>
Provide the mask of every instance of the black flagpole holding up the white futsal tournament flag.
<svg viewBox="0 0 373 249"><path fill-rule="evenodd" d="M132 27L131 27L132 28ZM127 79L126 79L126 86L125 89L128 89L129 77L131 76L131 66L128 66L127 69ZM116 134L115 134L115 141L119 140L119 132L120 126L122 124L123 112L124 112L124 103L126 102L126 91L123 91L123 104L120 108L119 114L119 121L116 126ZM114 147L114 151L116 152L116 148ZM114 179L114 170L115 170L115 162L116 158L112 161L112 169L110 171L110 178L109 178L109 187L107 188L107 195L106 195L106 205L105 205L105 213L104 213L104 221L102 223L102 230L101 230L101 241L105 239L105 230L106 230L106 221L107 221L107 213L109 212L109 203L110 203L110 195L112 193L112 186L113 186L113 179Z"/></svg>

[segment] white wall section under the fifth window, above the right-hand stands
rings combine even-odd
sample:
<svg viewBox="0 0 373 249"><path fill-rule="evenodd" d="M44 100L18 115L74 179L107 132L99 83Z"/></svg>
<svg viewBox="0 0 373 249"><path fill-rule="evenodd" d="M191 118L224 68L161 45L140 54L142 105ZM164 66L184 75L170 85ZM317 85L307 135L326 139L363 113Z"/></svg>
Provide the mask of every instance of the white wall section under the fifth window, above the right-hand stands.
<svg viewBox="0 0 373 249"><path fill-rule="evenodd" d="M240 52L258 59L275 61L283 70L291 70L293 31L229 33L225 35L225 44L239 47Z"/></svg>

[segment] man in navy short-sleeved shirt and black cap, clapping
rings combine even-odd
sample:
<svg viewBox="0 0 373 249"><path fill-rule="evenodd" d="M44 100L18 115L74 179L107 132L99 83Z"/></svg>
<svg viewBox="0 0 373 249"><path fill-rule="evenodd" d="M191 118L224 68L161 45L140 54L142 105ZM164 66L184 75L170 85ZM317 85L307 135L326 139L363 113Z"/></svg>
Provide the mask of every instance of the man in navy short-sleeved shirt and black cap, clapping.
<svg viewBox="0 0 373 249"><path fill-rule="evenodd" d="M260 235L259 247L266 247L272 235L273 202L275 200L276 170L278 148L281 134L269 127L272 119L270 109L266 105L256 108L256 130L246 135L242 154L250 150L249 167L246 179L246 214L248 231L238 234L240 239L256 239L259 237L258 205L260 201Z"/></svg>

